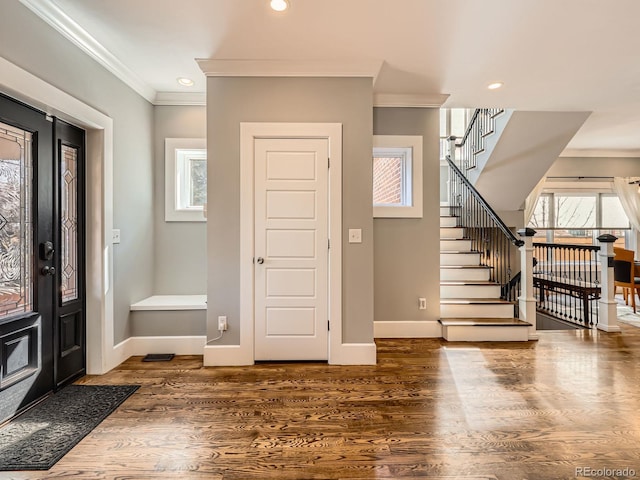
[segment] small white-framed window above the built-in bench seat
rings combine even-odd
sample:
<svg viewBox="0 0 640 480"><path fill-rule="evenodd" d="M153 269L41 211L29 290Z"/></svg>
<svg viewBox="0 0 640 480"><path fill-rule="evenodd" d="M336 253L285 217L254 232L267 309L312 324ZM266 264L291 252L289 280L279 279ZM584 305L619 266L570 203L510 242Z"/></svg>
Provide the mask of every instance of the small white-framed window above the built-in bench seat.
<svg viewBox="0 0 640 480"><path fill-rule="evenodd" d="M167 222L204 222L207 203L207 149L203 138L165 139Z"/></svg>

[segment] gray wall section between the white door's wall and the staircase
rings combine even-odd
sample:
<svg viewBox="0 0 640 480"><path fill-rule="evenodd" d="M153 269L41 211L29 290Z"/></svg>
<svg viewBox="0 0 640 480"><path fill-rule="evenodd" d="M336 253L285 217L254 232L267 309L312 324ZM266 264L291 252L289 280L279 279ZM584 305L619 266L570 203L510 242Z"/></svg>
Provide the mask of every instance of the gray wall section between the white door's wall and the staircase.
<svg viewBox="0 0 640 480"><path fill-rule="evenodd" d="M439 109L376 108L375 135L422 135L422 218L376 218L375 320L431 320L440 316ZM418 309L418 298L427 309Z"/></svg>

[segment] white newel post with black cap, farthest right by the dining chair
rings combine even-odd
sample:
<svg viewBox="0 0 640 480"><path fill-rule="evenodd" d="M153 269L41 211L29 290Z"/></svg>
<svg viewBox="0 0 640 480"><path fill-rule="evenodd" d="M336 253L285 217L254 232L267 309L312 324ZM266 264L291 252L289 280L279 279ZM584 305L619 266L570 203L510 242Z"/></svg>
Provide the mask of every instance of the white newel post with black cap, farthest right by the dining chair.
<svg viewBox="0 0 640 480"><path fill-rule="evenodd" d="M619 332L618 312L614 298L616 287L613 281L613 243L617 240L613 235L598 237L600 251L600 301L598 302L598 329L605 332Z"/></svg>

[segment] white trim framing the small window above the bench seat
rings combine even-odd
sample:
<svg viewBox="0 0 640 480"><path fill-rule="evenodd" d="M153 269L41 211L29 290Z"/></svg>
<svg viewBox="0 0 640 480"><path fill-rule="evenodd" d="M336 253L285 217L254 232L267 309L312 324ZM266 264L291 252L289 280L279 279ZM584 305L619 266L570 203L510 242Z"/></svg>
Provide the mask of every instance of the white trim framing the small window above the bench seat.
<svg viewBox="0 0 640 480"><path fill-rule="evenodd" d="M178 175L178 152L180 150L204 150L204 138L165 138L164 140L164 219L166 222L206 222L204 208L179 208L179 192L184 182ZM178 184L181 182L182 184Z"/></svg>

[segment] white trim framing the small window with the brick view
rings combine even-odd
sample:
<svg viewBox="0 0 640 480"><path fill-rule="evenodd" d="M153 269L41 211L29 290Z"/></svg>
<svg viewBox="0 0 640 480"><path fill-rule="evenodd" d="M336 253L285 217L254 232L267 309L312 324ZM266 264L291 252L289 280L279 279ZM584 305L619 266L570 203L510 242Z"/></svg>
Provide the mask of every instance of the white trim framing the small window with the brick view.
<svg viewBox="0 0 640 480"><path fill-rule="evenodd" d="M374 205L373 217L422 218L422 135L374 135L373 147L410 148L412 151L411 185L407 188L411 193L411 205Z"/></svg>

